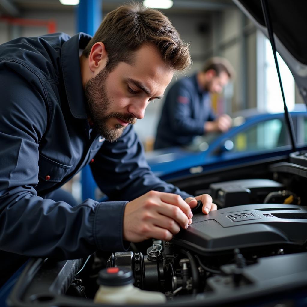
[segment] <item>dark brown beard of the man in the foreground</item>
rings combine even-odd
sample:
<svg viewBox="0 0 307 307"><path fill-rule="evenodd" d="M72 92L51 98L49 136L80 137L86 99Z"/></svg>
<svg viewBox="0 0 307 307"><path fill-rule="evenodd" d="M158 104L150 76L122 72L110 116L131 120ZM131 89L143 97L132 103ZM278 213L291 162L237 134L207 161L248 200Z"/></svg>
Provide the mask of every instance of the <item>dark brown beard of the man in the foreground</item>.
<svg viewBox="0 0 307 307"><path fill-rule="evenodd" d="M123 122L135 124L136 119L126 113L111 112L108 110L111 107L111 101L107 95L105 83L108 76L106 68L102 69L97 76L87 81L84 86L84 95L86 100L87 115L94 123L94 128L107 141L116 141L125 129L120 123L115 125L115 128L110 128L107 122L111 118L119 118Z"/></svg>

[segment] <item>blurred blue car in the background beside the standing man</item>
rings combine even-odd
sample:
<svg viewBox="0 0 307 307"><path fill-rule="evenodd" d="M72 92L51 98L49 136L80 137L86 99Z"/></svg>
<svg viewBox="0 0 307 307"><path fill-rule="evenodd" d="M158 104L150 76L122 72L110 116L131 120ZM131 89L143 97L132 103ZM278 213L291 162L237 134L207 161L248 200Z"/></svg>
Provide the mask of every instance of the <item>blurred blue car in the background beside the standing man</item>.
<svg viewBox="0 0 307 307"><path fill-rule="evenodd" d="M297 104L291 114L297 146L307 144L307 108ZM187 147L146 153L151 170L165 180L204 171L204 166L290 148L284 113L245 110L226 133L196 137ZM235 163L235 162L234 162ZM208 169L208 168L206 168Z"/></svg>

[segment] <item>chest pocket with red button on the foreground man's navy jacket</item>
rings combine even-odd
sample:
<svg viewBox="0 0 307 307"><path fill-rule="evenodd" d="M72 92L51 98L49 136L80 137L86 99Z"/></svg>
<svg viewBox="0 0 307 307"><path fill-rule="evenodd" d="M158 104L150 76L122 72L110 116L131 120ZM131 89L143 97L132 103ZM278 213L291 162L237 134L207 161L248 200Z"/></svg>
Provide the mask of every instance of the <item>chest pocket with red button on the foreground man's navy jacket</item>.
<svg viewBox="0 0 307 307"><path fill-rule="evenodd" d="M39 155L38 167L39 179L49 182L61 182L72 169L72 165L60 164L42 154Z"/></svg>

